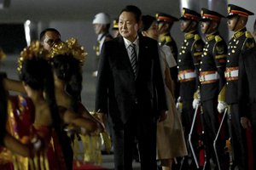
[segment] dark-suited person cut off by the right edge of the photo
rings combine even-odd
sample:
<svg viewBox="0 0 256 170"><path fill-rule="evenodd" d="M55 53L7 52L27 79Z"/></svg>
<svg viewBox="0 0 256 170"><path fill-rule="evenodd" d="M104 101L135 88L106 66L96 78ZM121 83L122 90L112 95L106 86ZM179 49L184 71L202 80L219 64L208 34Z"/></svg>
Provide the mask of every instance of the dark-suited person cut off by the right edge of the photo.
<svg viewBox="0 0 256 170"><path fill-rule="evenodd" d="M239 57L238 101L241 126L251 127L253 144L253 167L256 162L256 47ZM235 150L241 148L235 148Z"/></svg>

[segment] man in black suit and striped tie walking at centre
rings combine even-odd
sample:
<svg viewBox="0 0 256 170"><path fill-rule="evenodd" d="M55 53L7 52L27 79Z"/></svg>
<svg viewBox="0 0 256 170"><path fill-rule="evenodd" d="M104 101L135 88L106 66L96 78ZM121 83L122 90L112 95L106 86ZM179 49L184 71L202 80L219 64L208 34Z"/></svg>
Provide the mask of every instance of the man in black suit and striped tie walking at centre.
<svg viewBox="0 0 256 170"><path fill-rule="evenodd" d="M156 170L156 121L166 118L166 94L158 43L140 37L141 10L126 6L119 14L120 37L105 42L98 69L96 111L113 121L115 169L132 169L135 139L141 168Z"/></svg>

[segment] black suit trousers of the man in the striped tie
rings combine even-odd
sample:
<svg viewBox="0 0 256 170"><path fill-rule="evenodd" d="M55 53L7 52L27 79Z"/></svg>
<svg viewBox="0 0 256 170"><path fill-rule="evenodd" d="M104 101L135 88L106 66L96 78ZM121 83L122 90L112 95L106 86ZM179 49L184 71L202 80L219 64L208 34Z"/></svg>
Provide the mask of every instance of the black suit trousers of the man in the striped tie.
<svg viewBox="0 0 256 170"><path fill-rule="evenodd" d="M113 123L114 124L114 123ZM154 117L131 117L123 128L113 126L115 170L131 170L137 139L142 170L156 170L156 121Z"/></svg>

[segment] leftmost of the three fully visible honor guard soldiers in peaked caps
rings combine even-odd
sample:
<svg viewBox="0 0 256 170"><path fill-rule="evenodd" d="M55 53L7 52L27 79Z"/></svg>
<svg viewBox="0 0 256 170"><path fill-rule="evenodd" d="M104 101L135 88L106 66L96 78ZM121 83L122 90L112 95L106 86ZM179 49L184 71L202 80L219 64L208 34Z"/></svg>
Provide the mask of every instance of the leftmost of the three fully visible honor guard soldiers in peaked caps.
<svg viewBox="0 0 256 170"><path fill-rule="evenodd" d="M204 42L197 31L200 19L201 15L189 8L183 8L182 16L179 19L181 21L181 31L183 31L185 35L182 46L179 49L179 54L177 55L178 81L180 82L180 97L178 102L182 101L183 104L182 122L187 143L189 141L189 131L195 112L192 108L192 102L194 93L199 86L199 65L204 46ZM194 141L193 143L197 142ZM186 157L183 168L188 165L189 162Z"/></svg>

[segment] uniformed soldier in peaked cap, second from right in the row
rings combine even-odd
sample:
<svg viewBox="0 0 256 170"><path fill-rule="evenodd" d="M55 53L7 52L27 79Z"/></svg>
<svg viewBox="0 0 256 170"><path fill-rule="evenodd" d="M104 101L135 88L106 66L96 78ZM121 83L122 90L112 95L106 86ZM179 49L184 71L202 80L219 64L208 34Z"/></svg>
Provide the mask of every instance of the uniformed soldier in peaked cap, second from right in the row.
<svg viewBox="0 0 256 170"><path fill-rule="evenodd" d="M227 45L223 37L218 33L218 26L224 16L207 8L201 9L201 32L206 36L206 44L201 55L200 81L201 81L201 105L202 126L204 129L203 142L206 148L207 165L211 169L210 159L218 163L214 156L213 141L218 132L218 94L225 84L224 71L226 65ZM195 101L198 101L195 99ZM195 105L196 102L194 102ZM224 145L224 144L223 144ZM223 150L222 150L223 149ZM224 164L224 146L217 146L221 169ZM223 152L222 152L223 151ZM218 164L219 165L219 164Z"/></svg>

